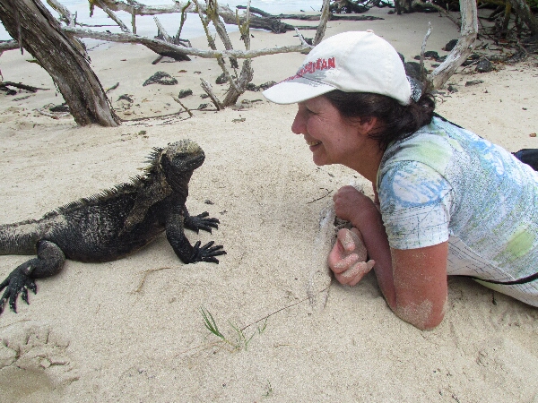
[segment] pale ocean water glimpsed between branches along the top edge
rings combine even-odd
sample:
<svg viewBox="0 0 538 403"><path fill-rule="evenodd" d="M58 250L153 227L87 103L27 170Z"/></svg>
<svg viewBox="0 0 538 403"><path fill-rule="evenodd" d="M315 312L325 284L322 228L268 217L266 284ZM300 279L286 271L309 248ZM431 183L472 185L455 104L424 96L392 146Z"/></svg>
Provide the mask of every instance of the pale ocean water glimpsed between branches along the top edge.
<svg viewBox="0 0 538 403"><path fill-rule="evenodd" d="M45 4L54 16L57 13L53 11L45 0L41 0ZM204 3L204 0L199 0ZM71 12L77 14L77 21L91 25L111 25L107 27L91 28L91 30L110 30L112 32L121 32L117 28L117 24L108 18L108 15L104 13L100 8L95 7L93 16L90 17L90 8L88 0L59 0L59 3L64 4L65 7ZM167 5L172 4L171 0L139 0L139 3L146 5ZM182 1L183 4L186 0ZM234 10L236 5L247 5L245 0L222 0L219 4L228 4L228 6ZM300 10L305 12L318 12L323 4L322 0L252 0L250 2L251 7L256 7L265 11L266 13L299 13ZM131 15L124 12L118 12L117 16L131 29ZM158 16L162 26L167 30L170 36L176 35L179 22L181 21L181 14L161 14ZM227 30L238 30L236 25L227 25ZM137 16L136 17L136 33L138 35L153 37L157 34L157 27L153 21L152 15ZM183 30L181 31L182 39L192 39L196 37L204 36L204 29L199 17L195 13L187 13L187 19ZM0 24L0 40L12 39L9 34L4 30L4 26ZM92 39L84 39L86 42L91 42Z"/></svg>

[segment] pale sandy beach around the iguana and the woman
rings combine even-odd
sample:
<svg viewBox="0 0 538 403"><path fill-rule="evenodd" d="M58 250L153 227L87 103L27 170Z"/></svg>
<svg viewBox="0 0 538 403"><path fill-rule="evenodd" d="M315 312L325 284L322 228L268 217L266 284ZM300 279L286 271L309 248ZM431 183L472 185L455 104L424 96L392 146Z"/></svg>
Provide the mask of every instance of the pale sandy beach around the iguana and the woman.
<svg viewBox="0 0 538 403"><path fill-rule="evenodd" d="M387 11L369 12L384 20L329 21L325 38L371 29L412 60L429 21L427 50L447 55L441 48L458 37L437 13ZM299 44L293 32L251 33L252 48ZM244 48L239 32L230 37ZM192 43L207 49L204 38ZM160 236L115 262L66 261L59 274L37 281L29 305L19 298L18 313L0 315L0 400L538 401L536 308L472 279L449 278L444 321L421 331L390 311L373 272L356 287L331 279L325 258L333 232L322 214L341 186L358 184L371 195L371 185L348 168L314 165L303 137L291 133L296 105L246 91L237 107L197 110L209 103L200 78L222 98L227 89L214 83L221 74L215 60L152 64L151 50L120 44L89 55L104 89L118 83L108 91L126 120L117 128L39 113L63 103L48 73L27 52L0 56L4 81L48 89L0 93L0 223L39 219L128 182L154 147L188 138L206 159L190 181L187 208L207 210L221 224L187 236L193 244L222 244L227 254L218 265L186 265ZM258 57L253 82L281 81L303 58ZM158 71L178 84L142 85ZM460 68L448 81L457 91L439 90L437 111L507 150L538 148L537 77L535 56L490 73ZM465 86L473 80L483 82ZM187 89L193 95L181 101L193 117L178 114L172 98ZM0 280L28 259L0 256ZM205 327L203 312L223 338Z"/></svg>

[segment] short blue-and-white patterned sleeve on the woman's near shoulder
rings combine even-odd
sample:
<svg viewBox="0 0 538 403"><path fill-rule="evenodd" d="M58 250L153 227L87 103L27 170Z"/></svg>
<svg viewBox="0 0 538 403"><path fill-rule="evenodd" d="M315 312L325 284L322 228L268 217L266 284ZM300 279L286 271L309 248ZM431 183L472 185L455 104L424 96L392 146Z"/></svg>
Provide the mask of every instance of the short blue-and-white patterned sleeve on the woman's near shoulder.
<svg viewBox="0 0 538 403"><path fill-rule="evenodd" d="M388 243L416 249L448 240L453 192L444 176L417 161L384 169L377 185Z"/></svg>

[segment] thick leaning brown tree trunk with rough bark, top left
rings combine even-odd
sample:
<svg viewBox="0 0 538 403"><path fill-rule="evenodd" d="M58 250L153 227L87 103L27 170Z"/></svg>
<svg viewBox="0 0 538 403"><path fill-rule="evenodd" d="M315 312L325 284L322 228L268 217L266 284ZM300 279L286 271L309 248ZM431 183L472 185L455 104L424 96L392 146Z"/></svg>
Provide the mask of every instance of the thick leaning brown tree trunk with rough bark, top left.
<svg viewBox="0 0 538 403"><path fill-rule="evenodd" d="M65 34L39 0L0 0L0 21L50 74L77 124L119 124L82 43Z"/></svg>

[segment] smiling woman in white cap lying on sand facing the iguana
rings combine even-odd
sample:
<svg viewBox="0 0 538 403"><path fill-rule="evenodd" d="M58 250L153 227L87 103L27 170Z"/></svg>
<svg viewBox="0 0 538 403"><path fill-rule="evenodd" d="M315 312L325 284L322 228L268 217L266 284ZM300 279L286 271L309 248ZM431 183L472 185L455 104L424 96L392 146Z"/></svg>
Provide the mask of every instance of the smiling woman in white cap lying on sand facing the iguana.
<svg viewBox="0 0 538 403"><path fill-rule="evenodd" d="M298 103L291 130L317 165L343 164L373 185L374 201L351 186L334 195L352 225L328 257L341 283L354 286L373 267L391 309L420 329L443 319L447 274L538 306L538 174L436 115L384 39L325 39L264 95Z"/></svg>

